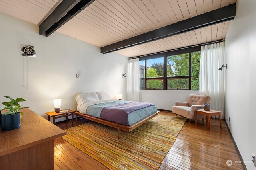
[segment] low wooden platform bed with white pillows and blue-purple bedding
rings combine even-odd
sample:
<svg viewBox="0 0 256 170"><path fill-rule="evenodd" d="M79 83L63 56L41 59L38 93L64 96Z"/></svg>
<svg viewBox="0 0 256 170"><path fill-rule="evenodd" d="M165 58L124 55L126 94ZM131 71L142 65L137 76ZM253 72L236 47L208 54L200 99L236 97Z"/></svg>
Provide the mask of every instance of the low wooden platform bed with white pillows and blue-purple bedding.
<svg viewBox="0 0 256 170"><path fill-rule="evenodd" d="M112 99L106 92L77 94L76 101L76 117L114 127L118 138L120 130L130 132L159 112L155 104Z"/></svg>

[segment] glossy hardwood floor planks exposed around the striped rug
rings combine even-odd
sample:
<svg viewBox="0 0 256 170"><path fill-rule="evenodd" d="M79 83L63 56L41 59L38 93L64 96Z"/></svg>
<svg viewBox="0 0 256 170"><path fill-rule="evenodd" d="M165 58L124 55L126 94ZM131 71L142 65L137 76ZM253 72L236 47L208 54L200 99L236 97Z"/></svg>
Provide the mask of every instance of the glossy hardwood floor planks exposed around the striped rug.
<svg viewBox="0 0 256 170"><path fill-rule="evenodd" d="M159 114L175 116L173 113L161 111ZM179 116L177 116L179 117ZM82 119L74 126L88 122ZM72 122L57 124L61 129L72 127ZM198 121L197 128L192 120L184 124L174 145L164 158L159 170L175 169L230 169L243 170L240 165L227 166L226 161L240 161L238 152L228 132L226 123L219 119L210 119L210 131L206 129L206 121ZM106 170L97 160L80 151L61 137L55 139L55 170Z"/></svg>

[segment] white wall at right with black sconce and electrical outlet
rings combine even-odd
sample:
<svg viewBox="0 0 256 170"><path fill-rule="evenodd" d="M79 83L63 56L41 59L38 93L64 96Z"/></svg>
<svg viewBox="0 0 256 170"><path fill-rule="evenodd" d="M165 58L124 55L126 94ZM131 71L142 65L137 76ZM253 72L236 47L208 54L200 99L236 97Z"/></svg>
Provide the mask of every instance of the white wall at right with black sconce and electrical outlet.
<svg viewBox="0 0 256 170"><path fill-rule="evenodd" d="M238 0L226 35L226 114L244 161L256 154L256 1ZM228 121L230 117L230 121ZM256 169L252 164L248 170Z"/></svg>

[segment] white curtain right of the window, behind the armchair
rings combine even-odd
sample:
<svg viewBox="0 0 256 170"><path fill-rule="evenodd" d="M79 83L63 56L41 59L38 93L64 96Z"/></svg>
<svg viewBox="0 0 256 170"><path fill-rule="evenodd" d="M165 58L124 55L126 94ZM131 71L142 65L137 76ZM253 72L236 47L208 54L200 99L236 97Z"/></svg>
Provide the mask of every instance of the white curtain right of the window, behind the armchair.
<svg viewBox="0 0 256 170"><path fill-rule="evenodd" d="M200 94L211 97L210 108L222 112L224 119L225 71L224 42L201 47L199 86ZM219 118L219 116L216 116Z"/></svg>

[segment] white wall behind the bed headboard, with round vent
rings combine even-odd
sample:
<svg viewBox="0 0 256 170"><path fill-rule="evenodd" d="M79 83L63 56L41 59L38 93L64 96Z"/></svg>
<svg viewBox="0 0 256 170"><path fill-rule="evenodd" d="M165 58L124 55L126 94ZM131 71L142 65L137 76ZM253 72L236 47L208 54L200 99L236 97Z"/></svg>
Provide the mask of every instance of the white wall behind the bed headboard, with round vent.
<svg viewBox="0 0 256 170"><path fill-rule="evenodd" d="M122 74L127 71L128 57L103 55L99 47L57 32L41 36L37 25L3 13L0 23L1 108L8 95L27 99L23 105L43 117L45 112L54 111L56 98L62 99L61 109L75 109L76 92L105 90L110 96L122 93L126 99L126 78ZM36 49L36 58L28 58L28 77L27 57L20 55L21 44Z"/></svg>

